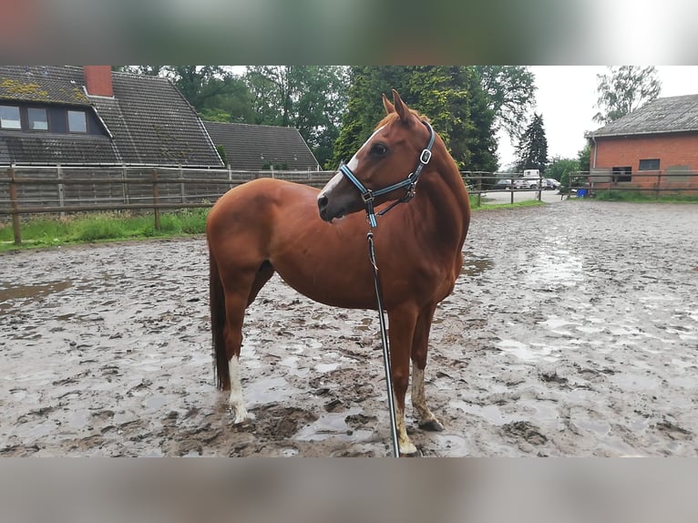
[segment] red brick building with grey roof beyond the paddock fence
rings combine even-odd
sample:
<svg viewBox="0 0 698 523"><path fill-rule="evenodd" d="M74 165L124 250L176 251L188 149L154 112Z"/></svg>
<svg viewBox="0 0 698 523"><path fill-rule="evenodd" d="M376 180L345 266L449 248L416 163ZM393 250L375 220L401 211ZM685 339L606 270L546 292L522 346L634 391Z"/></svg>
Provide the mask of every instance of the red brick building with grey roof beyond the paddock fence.
<svg viewBox="0 0 698 523"><path fill-rule="evenodd" d="M657 98L586 138L597 185L698 189L698 95Z"/></svg>

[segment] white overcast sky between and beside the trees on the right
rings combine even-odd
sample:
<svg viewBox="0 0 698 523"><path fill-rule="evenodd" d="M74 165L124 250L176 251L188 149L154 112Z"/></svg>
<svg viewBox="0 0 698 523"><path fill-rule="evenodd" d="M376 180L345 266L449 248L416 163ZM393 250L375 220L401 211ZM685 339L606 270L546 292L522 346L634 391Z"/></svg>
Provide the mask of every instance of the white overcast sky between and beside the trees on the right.
<svg viewBox="0 0 698 523"><path fill-rule="evenodd" d="M593 121L596 108L596 75L605 74L605 66L531 66L536 77L536 112L542 114L548 158L577 158L584 148L586 131L600 128ZM698 94L698 67L657 66L662 80L660 97ZM515 147L504 134L498 135L500 169L516 159Z"/></svg>

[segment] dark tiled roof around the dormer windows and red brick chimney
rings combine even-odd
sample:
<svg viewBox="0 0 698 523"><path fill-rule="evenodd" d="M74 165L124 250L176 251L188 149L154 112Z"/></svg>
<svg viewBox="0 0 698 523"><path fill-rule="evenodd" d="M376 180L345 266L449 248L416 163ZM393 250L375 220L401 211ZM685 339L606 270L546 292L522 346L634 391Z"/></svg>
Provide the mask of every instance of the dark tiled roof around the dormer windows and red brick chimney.
<svg viewBox="0 0 698 523"><path fill-rule="evenodd" d="M0 103L93 110L105 135L0 130L0 163L222 167L199 116L169 79L112 72L113 97L84 89L82 67L0 66Z"/></svg>

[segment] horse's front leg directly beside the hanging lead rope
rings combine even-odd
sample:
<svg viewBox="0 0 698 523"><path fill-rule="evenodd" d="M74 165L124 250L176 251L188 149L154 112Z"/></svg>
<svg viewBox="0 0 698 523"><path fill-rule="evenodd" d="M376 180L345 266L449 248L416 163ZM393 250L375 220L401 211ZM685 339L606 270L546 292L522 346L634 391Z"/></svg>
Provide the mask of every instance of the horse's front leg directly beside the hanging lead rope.
<svg viewBox="0 0 698 523"><path fill-rule="evenodd" d="M416 456L418 451L405 426L405 393L409 385L409 362L415 333L416 312L411 307L388 311L390 321L390 374L395 396L395 428L403 456Z"/></svg>

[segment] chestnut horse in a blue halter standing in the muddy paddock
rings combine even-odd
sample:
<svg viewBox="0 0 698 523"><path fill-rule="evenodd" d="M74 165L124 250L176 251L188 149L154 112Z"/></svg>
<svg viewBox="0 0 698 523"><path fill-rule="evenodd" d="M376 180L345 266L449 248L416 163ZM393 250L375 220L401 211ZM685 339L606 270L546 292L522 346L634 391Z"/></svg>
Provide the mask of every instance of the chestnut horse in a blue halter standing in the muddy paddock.
<svg viewBox="0 0 698 523"><path fill-rule="evenodd" d="M247 418L240 378L247 306L278 272L314 301L377 309L369 223L359 211L375 224L374 207L389 208L377 221L375 257L390 325L395 429L400 453L414 455L405 429L410 360L418 424L443 430L426 405L426 352L436 305L460 273L470 204L456 163L426 118L395 91L392 103L385 95L383 102L387 116L323 190L256 179L216 202L206 224L211 330L218 386L231 391L234 422L241 423Z"/></svg>

